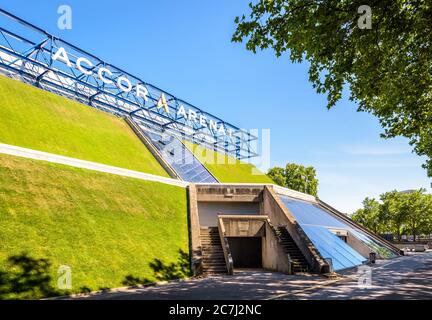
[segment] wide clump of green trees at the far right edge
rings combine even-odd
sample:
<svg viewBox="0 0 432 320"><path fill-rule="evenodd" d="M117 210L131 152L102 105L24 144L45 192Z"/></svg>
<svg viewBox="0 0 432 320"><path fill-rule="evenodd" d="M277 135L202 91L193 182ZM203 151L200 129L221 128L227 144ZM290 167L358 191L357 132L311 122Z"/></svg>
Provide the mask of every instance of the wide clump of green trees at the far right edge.
<svg viewBox="0 0 432 320"><path fill-rule="evenodd" d="M420 234L432 234L432 195L424 189L394 190L382 194L380 200L366 198L352 219L376 233L392 233L398 241L402 234L412 235L414 241Z"/></svg>

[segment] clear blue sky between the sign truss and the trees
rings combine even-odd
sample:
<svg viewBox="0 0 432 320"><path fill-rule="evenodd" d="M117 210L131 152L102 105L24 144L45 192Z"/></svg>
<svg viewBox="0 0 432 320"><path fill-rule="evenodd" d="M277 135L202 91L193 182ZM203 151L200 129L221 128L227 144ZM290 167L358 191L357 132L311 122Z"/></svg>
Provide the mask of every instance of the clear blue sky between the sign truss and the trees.
<svg viewBox="0 0 432 320"><path fill-rule="evenodd" d="M271 130L271 166L312 165L319 196L352 212L366 196L428 188L424 159L406 139L383 140L378 121L347 99L334 109L307 64L231 43L236 1L1 1L1 7L242 128ZM121 5L119 5L119 3ZM70 5L72 30L57 28ZM347 95L346 95L347 96ZM430 188L428 188L430 191Z"/></svg>

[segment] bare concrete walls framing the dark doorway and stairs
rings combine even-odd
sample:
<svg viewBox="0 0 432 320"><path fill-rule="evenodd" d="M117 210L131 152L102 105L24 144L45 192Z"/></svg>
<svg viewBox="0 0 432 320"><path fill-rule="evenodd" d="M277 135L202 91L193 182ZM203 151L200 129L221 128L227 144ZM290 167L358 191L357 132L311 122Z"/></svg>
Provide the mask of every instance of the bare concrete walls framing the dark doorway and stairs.
<svg viewBox="0 0 432 320"><path fill-rule="evenodd" d="M319 255L308 238L303 234L294 219L284 212L284 207L278 203L272 186L264 185L191 185L189 187L191 249L194 274L205 272L203 266L203 244L201 243L201 228L217 228L220 234L221 246L226 262L225 272L233 273L234 260L239 260L238 246L247 246L252 242L247 238L260 238L261 245L255 245L261 256L261 266L267 270L293 273L293 257L285 250L284 239L277 232L277 227L289 228L292 236L290 248L300 252L296 257L303 256L307 269L315 272L328 272L327 262ZM218 210L218 208L220 208ZM256 242L255 242L256 243ZM236 246L236 248L231 248ZM252 248L244 248L251 251ZM297 252L297 253L298 253ZM233 256L234 253L234 256ZM256 257L257 254L254 255ZM254 258L256 259L256 258ZM240 265L244 263L238 261Z"/></svg>

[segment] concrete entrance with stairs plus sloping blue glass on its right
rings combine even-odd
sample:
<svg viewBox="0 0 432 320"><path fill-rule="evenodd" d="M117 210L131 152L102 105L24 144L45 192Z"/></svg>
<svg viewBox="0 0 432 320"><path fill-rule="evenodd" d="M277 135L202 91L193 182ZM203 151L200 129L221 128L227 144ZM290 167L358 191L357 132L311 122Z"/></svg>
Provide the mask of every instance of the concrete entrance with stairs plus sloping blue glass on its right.
<svg viewBox="0 0 432 320"><path fill-rule="evenodd" d="M324 202L274 185L192 184L189 207L195 275L236 267L329 273L367 263L371 253L399 255Z"/></svg>

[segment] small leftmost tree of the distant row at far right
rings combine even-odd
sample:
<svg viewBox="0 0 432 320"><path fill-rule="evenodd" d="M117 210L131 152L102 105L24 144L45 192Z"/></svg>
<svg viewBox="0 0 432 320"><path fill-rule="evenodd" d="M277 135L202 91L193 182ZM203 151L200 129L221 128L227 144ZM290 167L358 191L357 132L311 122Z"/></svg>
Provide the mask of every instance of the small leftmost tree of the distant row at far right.
<svg viewBox="0 0 432 320"><path fill-rule="evenodd" d="M364 199L363 209L357 210L351 218L374 233L385 231L382 227L380 203L373 198Z"/></svg>

